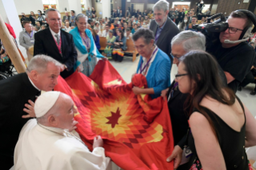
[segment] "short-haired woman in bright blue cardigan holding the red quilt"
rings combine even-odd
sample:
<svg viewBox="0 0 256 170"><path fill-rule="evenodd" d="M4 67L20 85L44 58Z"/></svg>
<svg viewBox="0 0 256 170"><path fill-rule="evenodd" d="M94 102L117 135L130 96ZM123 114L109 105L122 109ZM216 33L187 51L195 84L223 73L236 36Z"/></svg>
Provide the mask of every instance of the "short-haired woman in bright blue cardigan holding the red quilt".
<svg viewBox="0 0 256 170"><path fill-rule="evenodd" d="M140 61L136 74L146 77L148 88L133 87L134 94L148 94L155 99L161 91L170 86L171 60L165 52L155 45L152 30L140 28L132 35L136 50L140 54Z"/></svg>

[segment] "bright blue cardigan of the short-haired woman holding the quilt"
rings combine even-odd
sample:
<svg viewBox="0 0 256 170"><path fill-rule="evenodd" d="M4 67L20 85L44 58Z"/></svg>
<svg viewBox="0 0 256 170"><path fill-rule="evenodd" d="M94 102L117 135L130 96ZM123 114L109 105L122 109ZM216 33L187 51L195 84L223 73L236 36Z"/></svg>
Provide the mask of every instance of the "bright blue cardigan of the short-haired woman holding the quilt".
<svg viewBox="0 0 256 170"><path fill-rule="evenodd" d="M143 63L142 56L137 67L137 74L140 74L140 66ZM148 88L153 88L155 94L150 95L152 99L161 96L161 91L170 86L171 81L171 68L172 62L165 52L158 48L155 59L149 67L148 74L146 75Z"/></svg>

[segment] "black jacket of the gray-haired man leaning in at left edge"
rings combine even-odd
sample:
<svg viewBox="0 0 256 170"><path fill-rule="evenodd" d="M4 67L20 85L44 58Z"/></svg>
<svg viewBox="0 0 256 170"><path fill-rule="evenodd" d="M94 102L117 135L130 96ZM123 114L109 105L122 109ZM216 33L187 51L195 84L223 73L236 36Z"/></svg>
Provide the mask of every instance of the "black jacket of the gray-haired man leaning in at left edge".
<svg viewBox="0 0 256 170"><path fill-rule="evenodd" d="M0 164L1 169L10 169L14 165L14 148L19 132L29 119L23 111L28 100L35 102L35 95L40 95L28 79L26 73L14 75L0 81Z"/></svg>

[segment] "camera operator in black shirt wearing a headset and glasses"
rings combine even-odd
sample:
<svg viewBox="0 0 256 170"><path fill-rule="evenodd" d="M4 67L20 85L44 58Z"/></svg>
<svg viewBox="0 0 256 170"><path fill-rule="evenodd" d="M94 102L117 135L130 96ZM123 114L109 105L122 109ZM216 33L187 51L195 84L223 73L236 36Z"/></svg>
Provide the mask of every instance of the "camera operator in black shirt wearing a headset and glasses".
<svg viewBox="0 0 256 170"><path fill-rule="evenodd" d="M209 52L216 57L225 72L228 86L236 92L255 58L253 47L242 40L248 37L253 22L245 12L239 10L232 12L226 22L229 27L219 35L221 43L217 43Z"/></svg>

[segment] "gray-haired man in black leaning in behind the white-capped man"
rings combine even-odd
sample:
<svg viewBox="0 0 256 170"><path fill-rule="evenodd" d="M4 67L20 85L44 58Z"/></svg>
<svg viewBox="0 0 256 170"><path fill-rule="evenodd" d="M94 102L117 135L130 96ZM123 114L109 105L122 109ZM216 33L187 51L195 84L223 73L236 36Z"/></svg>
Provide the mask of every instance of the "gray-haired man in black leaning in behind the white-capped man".
<svg viewBox="0 0 256 170"><path fill-rule="evenodd" d="M26 73L0 81L0 164L2 170L14 165L14 148L27 118L35 117L34 103L41 91L52 91L58 83L61 64L46 55L30 60ZM29 115L27 115L29 114Z"/></svg>

